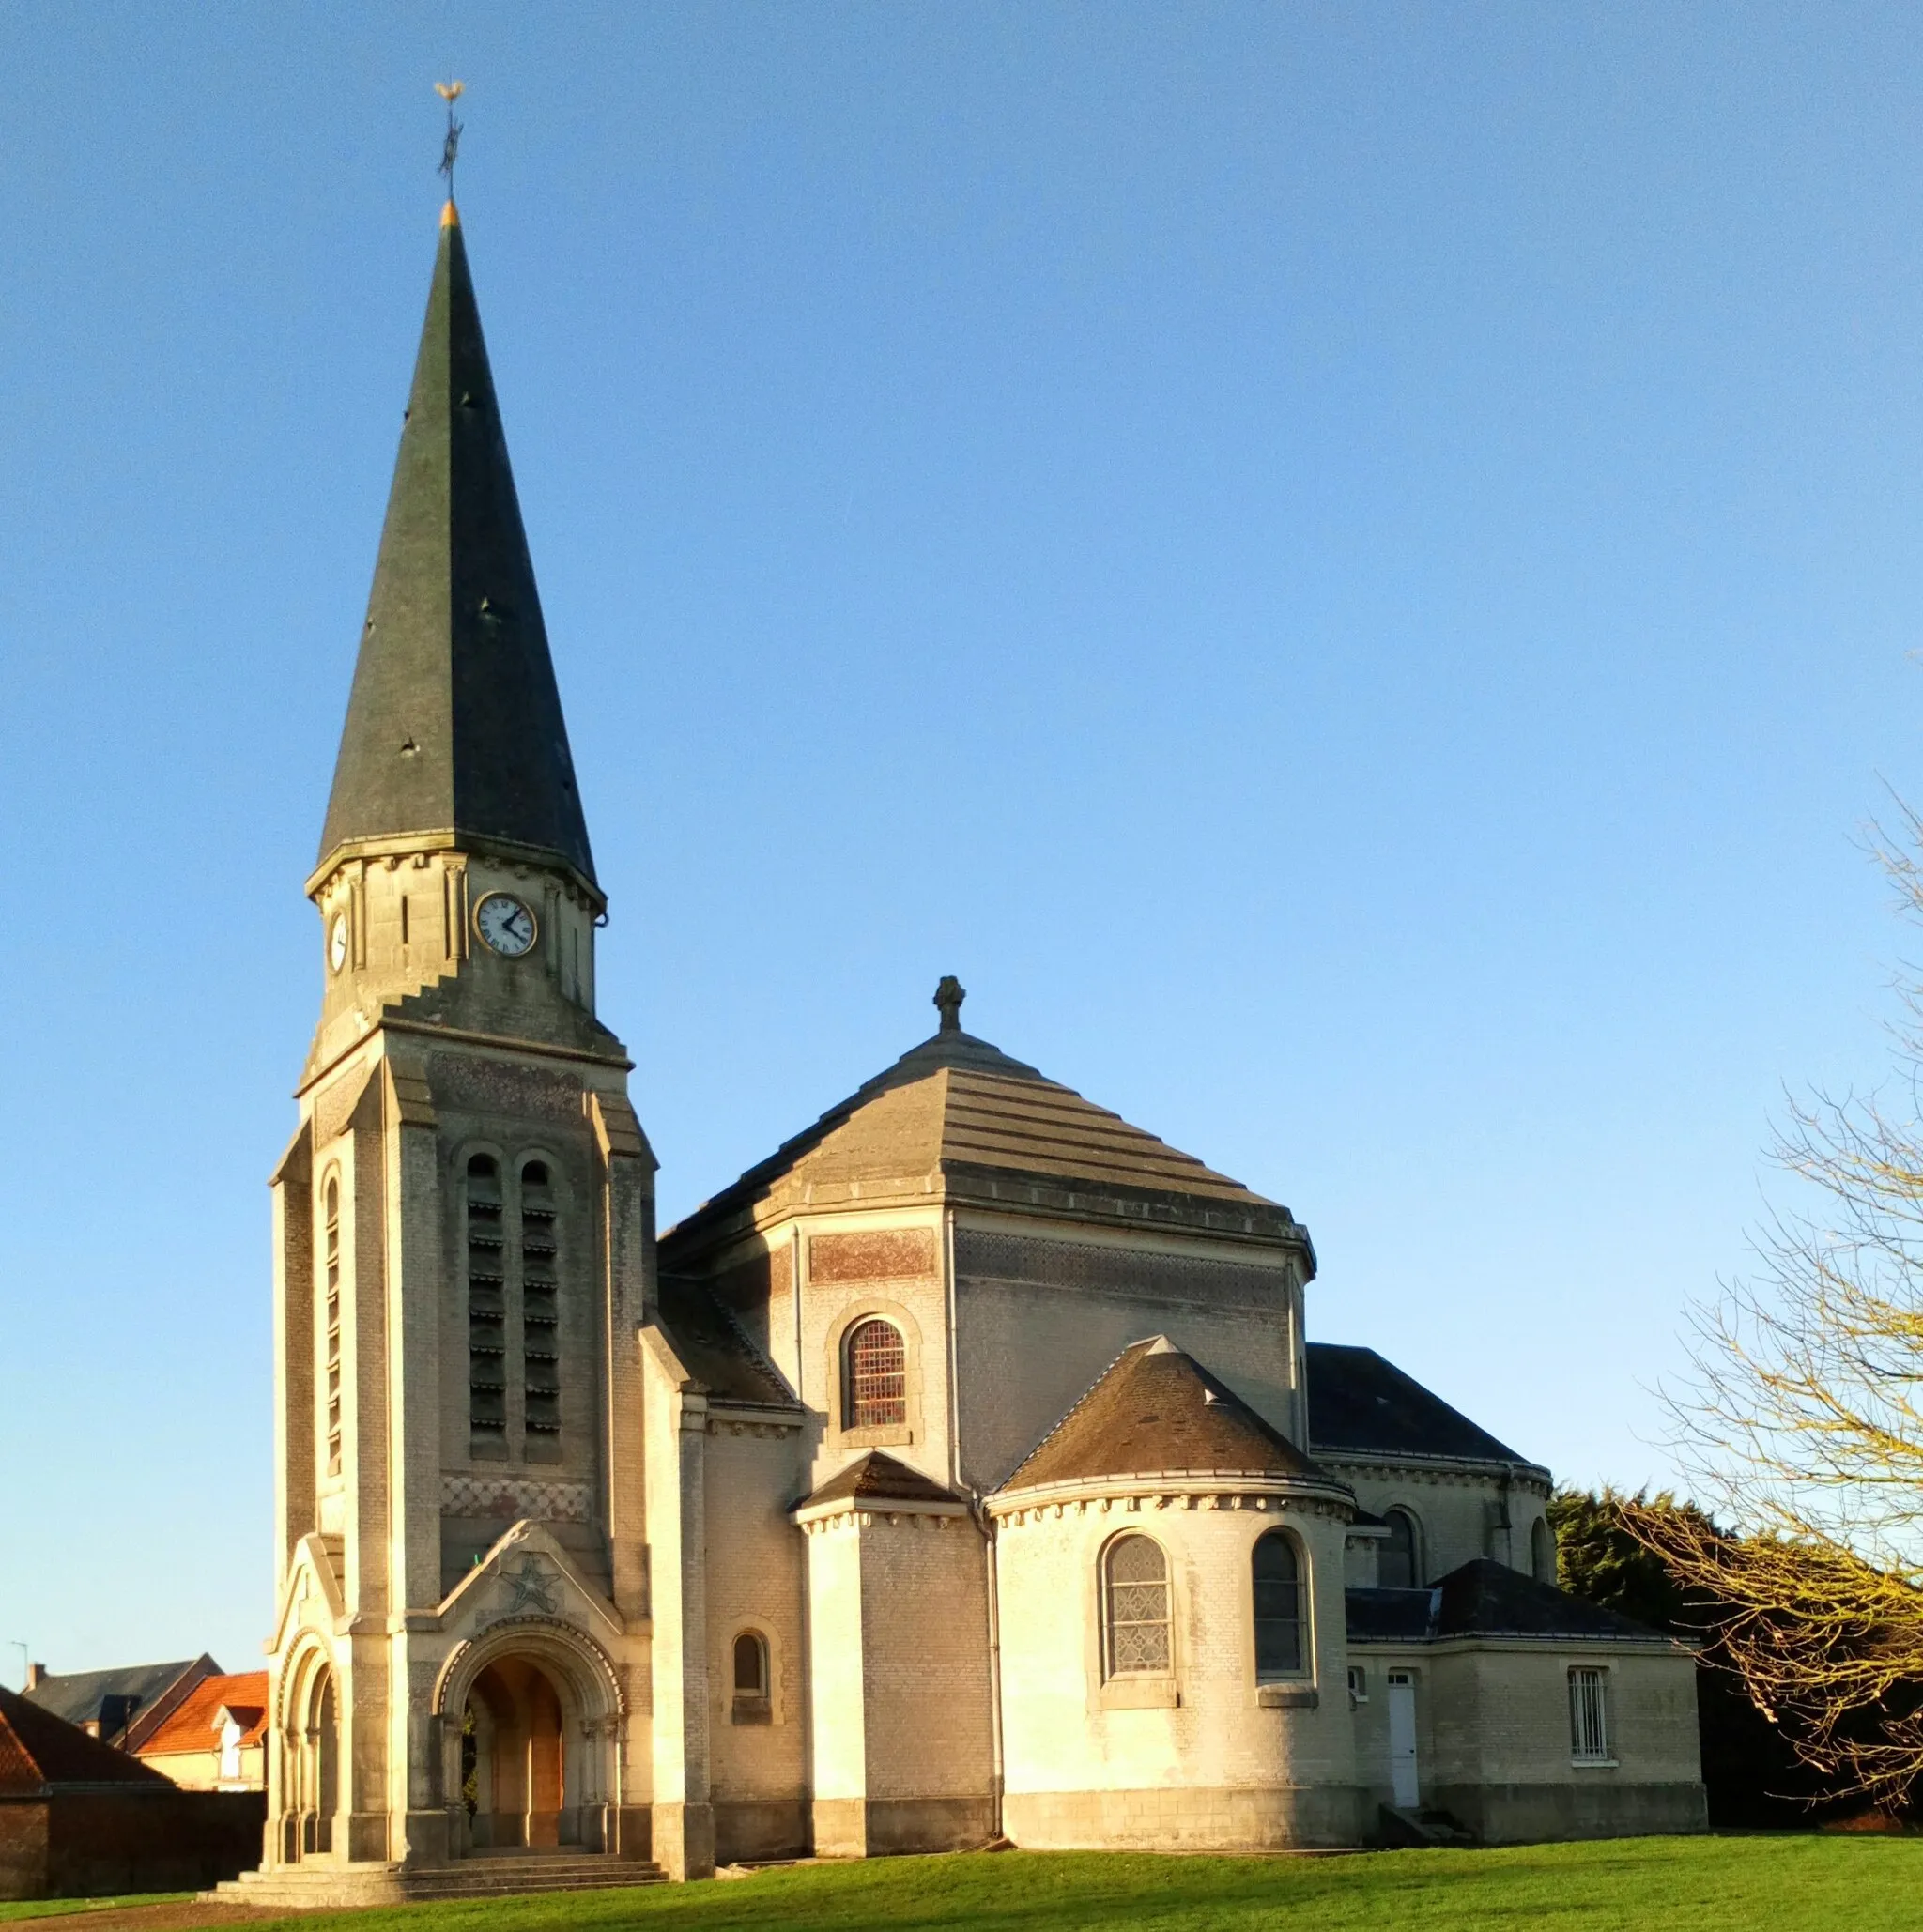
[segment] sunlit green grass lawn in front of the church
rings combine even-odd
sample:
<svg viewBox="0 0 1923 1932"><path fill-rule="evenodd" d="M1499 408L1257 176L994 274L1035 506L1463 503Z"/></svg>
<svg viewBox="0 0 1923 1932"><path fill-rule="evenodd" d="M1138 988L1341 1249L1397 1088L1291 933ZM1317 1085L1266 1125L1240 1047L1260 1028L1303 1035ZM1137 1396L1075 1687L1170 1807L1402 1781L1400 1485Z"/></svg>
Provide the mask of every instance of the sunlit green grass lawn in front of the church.
<svg viewBox="0 0 1923 1932"><path fill-rule="evenodd" d="M1343 1859L966 1855L703 1886L301 1915L305 1932L1923 1932L1923 1839L1641 1837Z"/></svg>

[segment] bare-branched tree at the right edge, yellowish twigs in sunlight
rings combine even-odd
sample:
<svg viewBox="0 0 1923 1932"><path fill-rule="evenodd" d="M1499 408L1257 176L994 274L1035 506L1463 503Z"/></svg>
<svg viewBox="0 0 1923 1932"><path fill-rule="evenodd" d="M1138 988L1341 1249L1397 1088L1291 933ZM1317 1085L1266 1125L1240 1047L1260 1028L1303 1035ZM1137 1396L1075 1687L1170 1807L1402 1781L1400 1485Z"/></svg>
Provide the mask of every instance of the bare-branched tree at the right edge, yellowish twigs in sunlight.
<svg viewBox="0 0 1923 1932"><path fill-rule="evenodd" d="M1923 819L1904 808L1877 856L1923 922ZM1799 1206L1697 1310L1695 1374L1666 1391L1707 1515L1627 1511L1797 1754L1882 1799L1923 1777L1923 976L1898 987L1896 1082L1792 1107L1774 1155Z"/></svg>

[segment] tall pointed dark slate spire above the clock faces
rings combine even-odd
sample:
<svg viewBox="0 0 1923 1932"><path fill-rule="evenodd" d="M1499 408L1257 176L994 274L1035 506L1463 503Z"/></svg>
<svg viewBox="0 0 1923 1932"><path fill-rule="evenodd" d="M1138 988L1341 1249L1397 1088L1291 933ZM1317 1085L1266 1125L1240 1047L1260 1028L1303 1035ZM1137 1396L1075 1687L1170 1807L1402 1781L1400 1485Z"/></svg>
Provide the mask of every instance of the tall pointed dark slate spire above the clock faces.
<svg viewBox="0 0 1923 1932"><path fill-rule="evenodd" d="M421 833L553 854L593 885L452 201L441 214L321 862L361 840Z"/></svg>

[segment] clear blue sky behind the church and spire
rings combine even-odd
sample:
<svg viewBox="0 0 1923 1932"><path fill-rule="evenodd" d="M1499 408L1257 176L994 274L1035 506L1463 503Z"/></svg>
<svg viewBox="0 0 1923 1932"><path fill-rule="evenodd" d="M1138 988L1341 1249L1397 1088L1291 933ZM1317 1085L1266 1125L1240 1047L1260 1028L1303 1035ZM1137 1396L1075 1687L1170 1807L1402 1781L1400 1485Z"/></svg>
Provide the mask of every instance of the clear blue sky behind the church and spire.
<svg viewBox="0 0 1923 1932"><path fill-rule="evenodd" d="M1660 1478L1784 1088L1884 1068L1919 43L0 14L0 1640L269 1627L265 1177L448 73L667 1217L957 972L1308 1223L1312 1335Z"/></svg>

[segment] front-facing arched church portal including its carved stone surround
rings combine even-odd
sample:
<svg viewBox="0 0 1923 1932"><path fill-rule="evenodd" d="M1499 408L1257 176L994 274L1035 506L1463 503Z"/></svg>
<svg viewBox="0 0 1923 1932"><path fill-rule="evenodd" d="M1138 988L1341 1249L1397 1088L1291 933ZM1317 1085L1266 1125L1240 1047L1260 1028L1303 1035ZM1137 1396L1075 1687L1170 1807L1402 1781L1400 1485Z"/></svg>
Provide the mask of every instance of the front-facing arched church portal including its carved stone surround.
<svg viewBox="0 0 1923 1932"><path fill-rule="evenodd" d="M533 1617L495 1625L454 1648L433 1710L456 1857L615 1847L624 1702L589 1636Z"/></svg>

